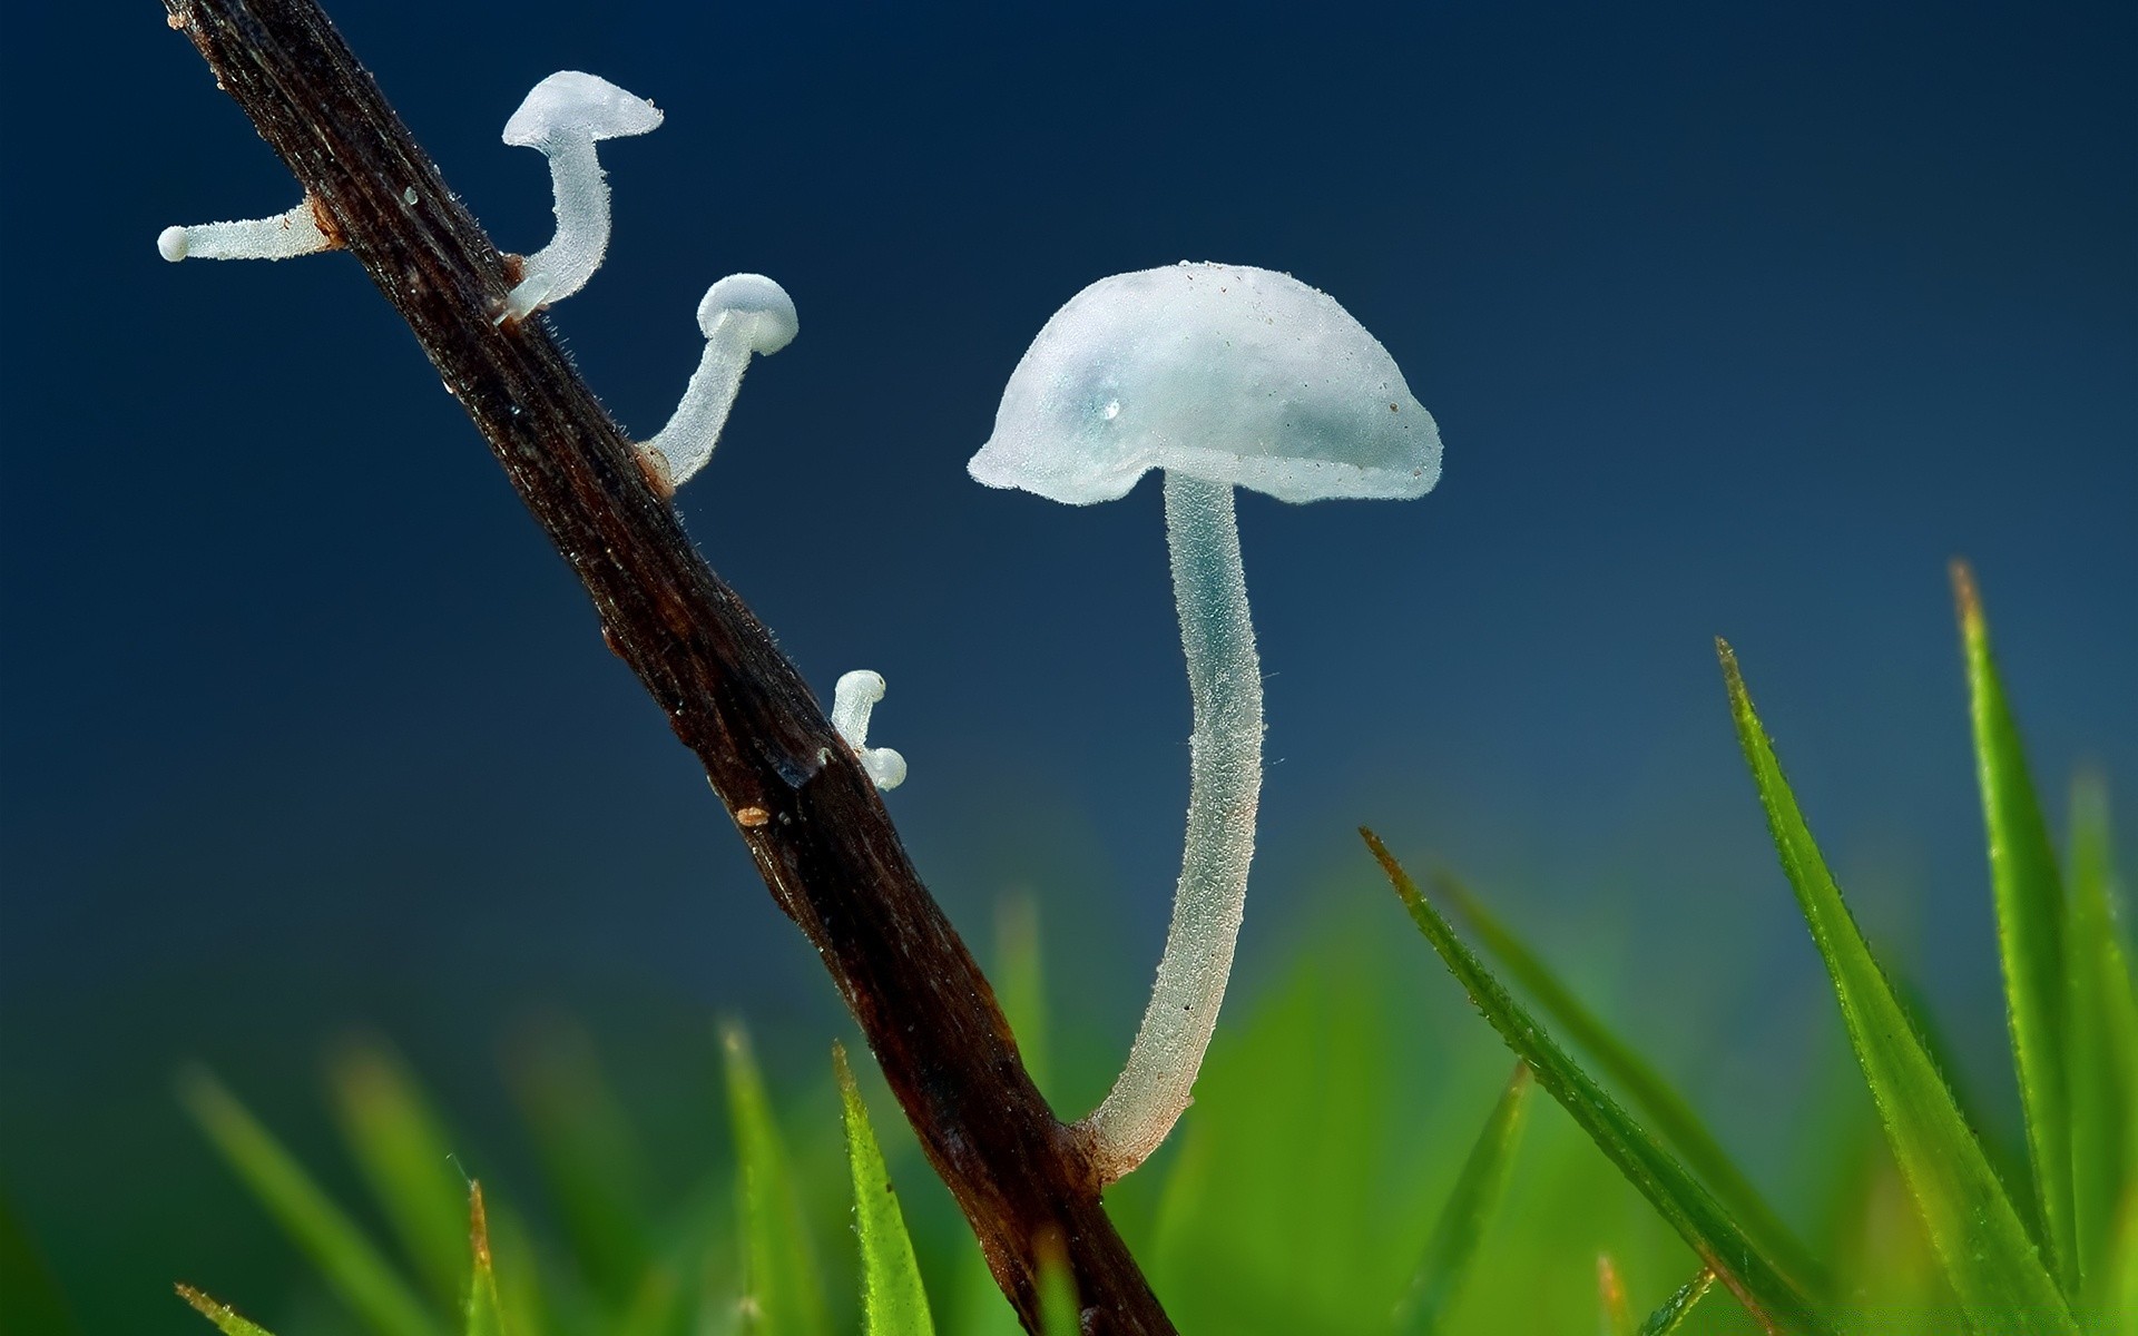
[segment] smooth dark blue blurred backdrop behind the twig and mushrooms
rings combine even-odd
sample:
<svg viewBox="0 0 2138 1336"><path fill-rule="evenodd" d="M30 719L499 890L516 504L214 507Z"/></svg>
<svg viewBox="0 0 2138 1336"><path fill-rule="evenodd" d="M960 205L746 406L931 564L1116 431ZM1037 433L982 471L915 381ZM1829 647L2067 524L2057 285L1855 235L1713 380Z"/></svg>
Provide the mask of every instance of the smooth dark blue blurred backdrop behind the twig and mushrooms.
<svg viewBox="0 0 2138 1336"><path fill-rule="evenodd" d="M1721 633L2001 1090L1943 562L2055 806L2080 763L2138 784L2129 4L331 9L507 248L549 235L498 143L539 77L667 111L605 145L616 239L556 329L650 434L714 278L793 293L684 517L812 682L887 675L921 868L979 936L1037 887L1103 1043L1187 791L1157 490L1071 511L964 460L1080 286L1223 259L1336 295L1447 442L1420 502L1242 500L1249 977L1377 894L1370 821L1625 960L1666 1041L1824 1015ZM156 259L295 199L188 43L24 6L0 60L0 1174L62 1272L111 1240L154 1289L246 1216L171 1114L186 1056L299 1120L286 1073L357 1017L477 1105L539 1007L740 1011L812 1065L830 988L357 265Z"/></svg>

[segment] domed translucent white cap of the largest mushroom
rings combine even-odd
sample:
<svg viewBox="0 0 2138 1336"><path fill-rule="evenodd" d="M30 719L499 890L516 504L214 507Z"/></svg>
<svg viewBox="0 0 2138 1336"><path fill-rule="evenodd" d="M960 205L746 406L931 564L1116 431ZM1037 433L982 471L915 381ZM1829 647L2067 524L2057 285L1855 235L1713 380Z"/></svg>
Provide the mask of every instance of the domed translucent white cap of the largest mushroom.
<svg viewBox="0 0 2138 1336"><path fill-rule="evenodd" d="M1279 500L1409 498L1441 434L1396 361L1328 293L1246 265L1101 278L1045 323L966 470L1065 504L1150 468Z"/></svg>

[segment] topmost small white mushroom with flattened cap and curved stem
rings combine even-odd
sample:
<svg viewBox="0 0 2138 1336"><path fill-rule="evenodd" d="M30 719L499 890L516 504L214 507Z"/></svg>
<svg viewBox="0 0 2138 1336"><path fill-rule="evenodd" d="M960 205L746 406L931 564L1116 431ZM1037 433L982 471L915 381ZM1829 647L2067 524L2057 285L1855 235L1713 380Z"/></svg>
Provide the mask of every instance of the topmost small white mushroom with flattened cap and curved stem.
<svg viewBox="0 0 2138 1336"><path fill-rule="evenodd" d="M534 86L505 122L505 143L541 150L556 192L556 237L526 257L520 284L505 299L502 321L562 301L594 276L609 250L609 182L594 145L644 135L661 109L597 75L558 71Z"/></svg>

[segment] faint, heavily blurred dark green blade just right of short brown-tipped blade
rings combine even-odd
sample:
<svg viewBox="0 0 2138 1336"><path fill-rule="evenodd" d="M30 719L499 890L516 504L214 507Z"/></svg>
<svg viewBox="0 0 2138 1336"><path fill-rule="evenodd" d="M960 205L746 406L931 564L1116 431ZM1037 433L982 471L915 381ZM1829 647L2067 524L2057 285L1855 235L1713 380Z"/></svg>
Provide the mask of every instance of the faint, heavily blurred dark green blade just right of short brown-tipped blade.
<svg viewBox="0 0 2138 1336"><path fill-rule="evenodd" d="M654 1259L646 1161L622 1101L586 1032L562 1022L515 1045L511 1075L571 1253L609 1310L622 1310Z"/></svg>

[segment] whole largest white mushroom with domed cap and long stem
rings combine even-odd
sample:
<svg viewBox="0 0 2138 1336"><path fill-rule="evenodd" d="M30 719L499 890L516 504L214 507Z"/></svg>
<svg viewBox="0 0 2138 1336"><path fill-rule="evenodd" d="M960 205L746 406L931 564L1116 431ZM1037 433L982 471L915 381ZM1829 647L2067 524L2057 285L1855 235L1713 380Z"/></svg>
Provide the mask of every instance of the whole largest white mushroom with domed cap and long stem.
<svg viewBox="0 0 2138 1336"><path fill-rule="evenodd" d="M1165 470L1195 701L1189 823L1150 1007L1114 1090L1078 1124L1101 1182L1114 1182L1189 1105L1255 855L1261 665L1231 490L1293 502L1420 496L1439 479L1441 436L1388 351L1326 293L1268 269L1180 263L1103 278L1060 308L966 468L1067 504L1114 500Z"/></svg>

